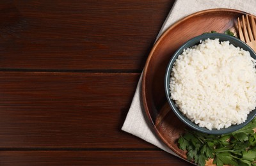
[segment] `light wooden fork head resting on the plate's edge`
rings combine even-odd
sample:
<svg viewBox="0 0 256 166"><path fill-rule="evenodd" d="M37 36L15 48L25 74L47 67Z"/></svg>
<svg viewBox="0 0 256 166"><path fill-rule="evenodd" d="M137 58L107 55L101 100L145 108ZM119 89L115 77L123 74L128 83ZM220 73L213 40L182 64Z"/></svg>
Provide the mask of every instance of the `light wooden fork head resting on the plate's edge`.
<svg viewBox="0 0 256 166"><path fill-rule="evenodd" d="M253 15L250 15L250 20L248 15L244 19L242 17L242 22L237 19L238 22L238 32L240 40L248 44L256 52L256 24Z"/></svg>

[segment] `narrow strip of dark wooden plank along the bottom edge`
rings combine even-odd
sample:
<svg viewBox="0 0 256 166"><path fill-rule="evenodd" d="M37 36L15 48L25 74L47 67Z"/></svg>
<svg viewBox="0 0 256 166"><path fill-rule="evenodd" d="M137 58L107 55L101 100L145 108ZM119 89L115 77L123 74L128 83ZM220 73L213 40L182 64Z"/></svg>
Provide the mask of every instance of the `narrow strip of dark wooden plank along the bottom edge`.
<svg viewBox="0 0 256 166"><path fill-rule="evenodd" d="M0 165L191 165L164 151L1 151Z"/></svg>

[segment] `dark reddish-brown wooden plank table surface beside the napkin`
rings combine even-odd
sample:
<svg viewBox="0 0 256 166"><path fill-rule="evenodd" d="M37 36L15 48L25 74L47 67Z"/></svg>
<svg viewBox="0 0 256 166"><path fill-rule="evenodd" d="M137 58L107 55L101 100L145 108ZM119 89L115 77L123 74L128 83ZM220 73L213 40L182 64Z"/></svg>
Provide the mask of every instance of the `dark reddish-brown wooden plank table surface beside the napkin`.
<svg viewBox="0 0 256 166"><path fill-rule="evenodd" d="M0 1L0 165L189 165L121 130L173 3Z"/></svg>

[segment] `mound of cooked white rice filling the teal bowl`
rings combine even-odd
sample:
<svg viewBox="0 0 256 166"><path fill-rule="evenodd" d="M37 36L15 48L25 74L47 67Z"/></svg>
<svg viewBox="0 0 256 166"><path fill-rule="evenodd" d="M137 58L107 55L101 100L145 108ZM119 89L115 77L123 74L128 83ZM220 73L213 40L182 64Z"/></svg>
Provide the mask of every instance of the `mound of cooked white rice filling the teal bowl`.
<svg viewBox="0 0 256 166"><path fill-rule="evenodd" d="M171 73L179 110L200 127L228 128L256 107L256 61L229 41L207 39L185 49Z"/></svg>

